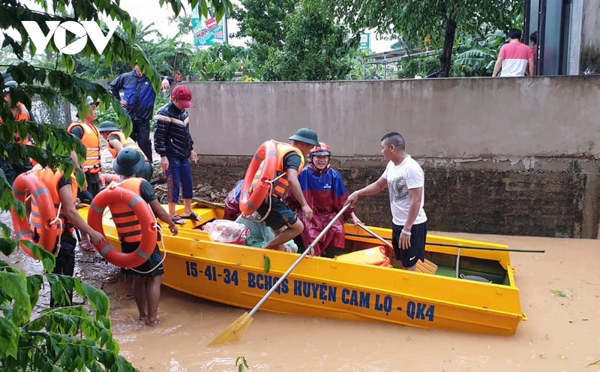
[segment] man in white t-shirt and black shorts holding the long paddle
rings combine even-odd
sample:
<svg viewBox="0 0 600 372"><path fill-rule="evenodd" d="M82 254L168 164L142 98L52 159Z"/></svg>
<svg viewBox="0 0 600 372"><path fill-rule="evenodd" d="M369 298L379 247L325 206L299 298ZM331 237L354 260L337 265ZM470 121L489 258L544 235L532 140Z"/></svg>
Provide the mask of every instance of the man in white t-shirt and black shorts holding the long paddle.
<svg viewBox="0 0 600 372"><path fill-rule="evenodd" d="M425 176L421 165L405 152L404 138L400 133L389 132L384 135L381 149L388 161L382 176L371 185L351 193L348 201L355 203L358 196L375 195L388 187L394 253L404 269L416 271L416 262L419 259L425 261Z"/></svg>

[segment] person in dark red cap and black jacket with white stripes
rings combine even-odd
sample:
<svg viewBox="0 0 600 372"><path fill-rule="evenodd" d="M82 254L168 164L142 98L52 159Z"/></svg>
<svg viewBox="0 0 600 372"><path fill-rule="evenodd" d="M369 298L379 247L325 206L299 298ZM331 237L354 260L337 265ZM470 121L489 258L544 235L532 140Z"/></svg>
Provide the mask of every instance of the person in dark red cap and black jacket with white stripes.
<svg viewBox="0 0 600 372"><path fill-rule="evenodd" d="M190 123L186 108L194 107L191 91L185 85L176 86L171 101L161 107L154 119L154 149L160 155L160 166L167 174L167 202L169 216L183 225L184 219L201 221L191 208L194 180L191 176L190 157L198 162L194 151L194 140L190 134ZM179 190L184 198L184 215L175 214L179 201Z"/></svg>

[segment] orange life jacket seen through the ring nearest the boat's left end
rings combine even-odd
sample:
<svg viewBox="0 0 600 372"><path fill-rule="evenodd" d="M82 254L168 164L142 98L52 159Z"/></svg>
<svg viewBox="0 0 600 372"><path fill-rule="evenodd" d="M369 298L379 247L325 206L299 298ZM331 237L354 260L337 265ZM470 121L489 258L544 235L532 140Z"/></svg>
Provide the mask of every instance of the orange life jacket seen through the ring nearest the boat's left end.
<svg viewBox="0 0 600 372"><path fill-rule="evenodd" d="M137 177L127 179L117 184L118 187L130 189L137 195L142 194L142 181ZM142 225L140 225L136 214L127 204L115 204L110 207L113 221L115 222L116 232L121 241L134 243L142 241Z"/></svg>

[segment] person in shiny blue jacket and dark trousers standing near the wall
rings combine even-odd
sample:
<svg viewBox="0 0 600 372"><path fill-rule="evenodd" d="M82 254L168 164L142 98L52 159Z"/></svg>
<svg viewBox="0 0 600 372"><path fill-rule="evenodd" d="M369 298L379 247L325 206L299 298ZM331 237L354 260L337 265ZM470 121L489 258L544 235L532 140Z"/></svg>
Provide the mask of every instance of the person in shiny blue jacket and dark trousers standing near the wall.
<svg viewBox="0 0 600 372"><path fill-rule="evenodd" d="M163 76L162 80L161 88L168 90L170 83L173 82L172 78ZM119 75L110 83L109 90L116 99L121 101L121 105L129 113L131 123L133 123L131 139L137 142L152 164L150 119L152 119L154 101L156 101L156 92L152 82L136 62L133 65L133 71ZM121 90L123 90L122 98Z"/></svg>

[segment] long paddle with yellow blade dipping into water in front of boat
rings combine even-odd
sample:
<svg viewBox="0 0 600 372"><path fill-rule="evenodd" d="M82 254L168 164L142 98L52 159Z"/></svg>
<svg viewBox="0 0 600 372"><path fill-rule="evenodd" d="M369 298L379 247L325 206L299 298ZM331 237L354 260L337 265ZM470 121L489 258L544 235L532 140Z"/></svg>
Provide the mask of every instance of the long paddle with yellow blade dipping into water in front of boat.
<svg viewBox="0 0 600 372"><path fill-rule="evenodd" d="M333 226L335 221L337 221L342 216L342 214L344 214L348 207L350 207L349 203L341 208L341 210L338 212L338 214L335 215L331 222L329 222L328 225L325 226L323 231L321 231L320 234L317 235L316 238L314 238L313 242L310 243L310 246L308 246L307 249L304 250L302 255L300 255L300 257L298 257L298 259L294 261L292 266L290 266L290 268L287 269L287 271L280 277L280 279L277 280L277 282L275 282L271 289L269 289L269 292L266 292L263 298L260 299L259 303L257 303L256 306L254 306L253 309L250 310L250 313L245 312L244 314L242 314L242 316L238 317L238 319L236 319L235 322L231 323L227 328L225 328L223 332L221 332L217 337L215 337L214 340L212 340L211 343L208 344L208 346L216 346L239 341L239 339L242 338L242 335L244 335L244 332L246 331L248 326L250 326L250 323L253 320L252 316L254 315L254 313L256 313L256 311L259 310L259 307L262 306L263 303L265 303L266 299L269 298L269 296L273 292L275 292L275 289L277 289L281 282L283 282L283 280L287 278L287 276L292 272L292 270L296 268L296 266L300 263L300 261L302 261L302 259L308 254L308 252L313 252L314 244L321 240L323 235L325 235L325 233L329 231L331 226Z"/></svg>

